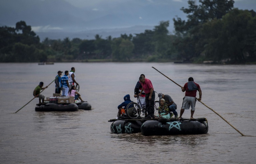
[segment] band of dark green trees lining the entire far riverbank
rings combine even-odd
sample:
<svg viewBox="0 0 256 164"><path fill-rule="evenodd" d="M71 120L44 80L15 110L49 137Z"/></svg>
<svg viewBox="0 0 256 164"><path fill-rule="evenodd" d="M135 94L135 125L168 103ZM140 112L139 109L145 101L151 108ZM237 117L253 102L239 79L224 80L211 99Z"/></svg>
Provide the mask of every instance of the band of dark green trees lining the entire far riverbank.
<svg viewBox="0 0 256 164"><path fill-rule="evenodd" d="M118 38L40 38L25 21L0 27L1 62L183 61L256 62L256 12L233 7L234 0L188 0L187 20L161 21L153 30Z"/></svg>

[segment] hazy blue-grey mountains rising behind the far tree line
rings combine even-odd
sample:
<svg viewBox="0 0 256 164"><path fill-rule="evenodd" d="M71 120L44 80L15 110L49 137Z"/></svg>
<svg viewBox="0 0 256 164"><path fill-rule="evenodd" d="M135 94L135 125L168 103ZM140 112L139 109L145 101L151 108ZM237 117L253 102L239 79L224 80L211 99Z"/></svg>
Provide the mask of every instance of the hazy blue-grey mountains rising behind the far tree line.
<svg viewBox="0 0 256 164"><path fill-rule="evenodd" d="M235 1L234 5L250 10L256 7L250 5L254 1ZM105 0L94 9L91 6L75 7L70 3L64 0L0 0L0 25L15 26L23 20L32 26L41 40L79 36L86 39L96 34L103 38L118 37L153 29L160 21L168 20L172 32L172 19L175 16L186 19L180 8L188 6L187 0Z"/></svg>

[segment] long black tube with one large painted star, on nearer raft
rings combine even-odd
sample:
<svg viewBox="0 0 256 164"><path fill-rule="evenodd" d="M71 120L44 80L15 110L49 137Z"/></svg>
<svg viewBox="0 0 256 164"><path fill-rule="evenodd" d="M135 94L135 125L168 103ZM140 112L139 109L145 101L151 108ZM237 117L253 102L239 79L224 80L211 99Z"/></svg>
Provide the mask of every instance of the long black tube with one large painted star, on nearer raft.
<svg viewBox="0 0 256 164"><path fill-rule="evenodd" d="M207 132L208 123L206 118L147 120L141 126L141 134L144 136L206 134Z"/></svg>

